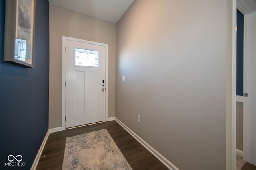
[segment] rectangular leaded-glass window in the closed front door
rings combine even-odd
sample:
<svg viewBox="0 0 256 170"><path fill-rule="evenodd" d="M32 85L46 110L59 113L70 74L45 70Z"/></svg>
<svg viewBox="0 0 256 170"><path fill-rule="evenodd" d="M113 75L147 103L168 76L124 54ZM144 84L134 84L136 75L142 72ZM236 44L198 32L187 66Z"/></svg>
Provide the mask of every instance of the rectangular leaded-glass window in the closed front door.
<svg viewBox="0 0 256 170"><path fill-rule="evenodd" d="M99 52L94 50L76 48L76 66L99 66Z"/></svg>

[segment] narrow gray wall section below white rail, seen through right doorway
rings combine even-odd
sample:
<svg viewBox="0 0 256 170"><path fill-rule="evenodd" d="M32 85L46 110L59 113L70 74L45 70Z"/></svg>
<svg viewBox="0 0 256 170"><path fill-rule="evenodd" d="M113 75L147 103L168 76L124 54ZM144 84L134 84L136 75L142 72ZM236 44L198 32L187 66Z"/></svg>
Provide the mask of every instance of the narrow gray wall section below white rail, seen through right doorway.
<svg viewBox="0 0 256 170"><path fill-rule="evenodd" d="M243 151L243 102L236 102L236 149Z"/></svg>

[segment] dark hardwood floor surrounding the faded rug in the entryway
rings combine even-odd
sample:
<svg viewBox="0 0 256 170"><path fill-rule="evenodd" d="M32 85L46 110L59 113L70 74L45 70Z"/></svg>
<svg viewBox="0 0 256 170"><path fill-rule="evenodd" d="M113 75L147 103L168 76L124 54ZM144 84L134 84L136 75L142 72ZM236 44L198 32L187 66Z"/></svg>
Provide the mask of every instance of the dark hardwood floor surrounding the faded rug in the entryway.
<svg viewBox="0 0 256 170"><path fill-rule="evenodd" d="M66 137L107 129L118 148L133 170L168 170L156 157L145 149L134 137L116 121L78 127L65 131L50 133L37 166L37 170L60 170L64 157ZM247 170L247 169L246 169Z"/></svg>

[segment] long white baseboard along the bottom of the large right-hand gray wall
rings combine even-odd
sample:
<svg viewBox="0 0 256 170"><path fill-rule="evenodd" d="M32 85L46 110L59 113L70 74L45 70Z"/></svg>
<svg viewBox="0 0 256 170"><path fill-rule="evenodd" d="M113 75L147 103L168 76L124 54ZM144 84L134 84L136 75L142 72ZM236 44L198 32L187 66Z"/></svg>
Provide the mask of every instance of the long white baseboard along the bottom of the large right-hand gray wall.
<svg viewBox="0 0 256 170"><path fill-rule="evenodd" d="M167 168L169 168L170 170L179 170L179 168L177 168L174 164L172 164L172 162L170 162L169 160L167 160L162 154L160 154L158 151L156 151L153 147L151 147L148 143L146 143L146 141L144 141L143 139L141 139L136 133L134 133L134 131L132 131L129 127L127 127L126 125L124 125L124 123L122 123L120 120L118 120L115 117L115 121L121 125L128 133L130 133L130 135L132 135L141 145L143 145L149 152L151 152L158 160L160 160L160 162L162 162Z"/></svg>

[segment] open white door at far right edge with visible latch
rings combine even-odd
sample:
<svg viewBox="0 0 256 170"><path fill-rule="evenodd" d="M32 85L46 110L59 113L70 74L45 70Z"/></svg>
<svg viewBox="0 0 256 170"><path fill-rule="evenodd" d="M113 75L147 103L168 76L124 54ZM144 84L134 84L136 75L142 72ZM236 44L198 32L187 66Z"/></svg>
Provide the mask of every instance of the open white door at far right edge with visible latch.
<svg viewBox="0 0 256 170"><path fill-rule="evenodd" d="M244 15L243 159L256 165L256 12Z"/></svg>

